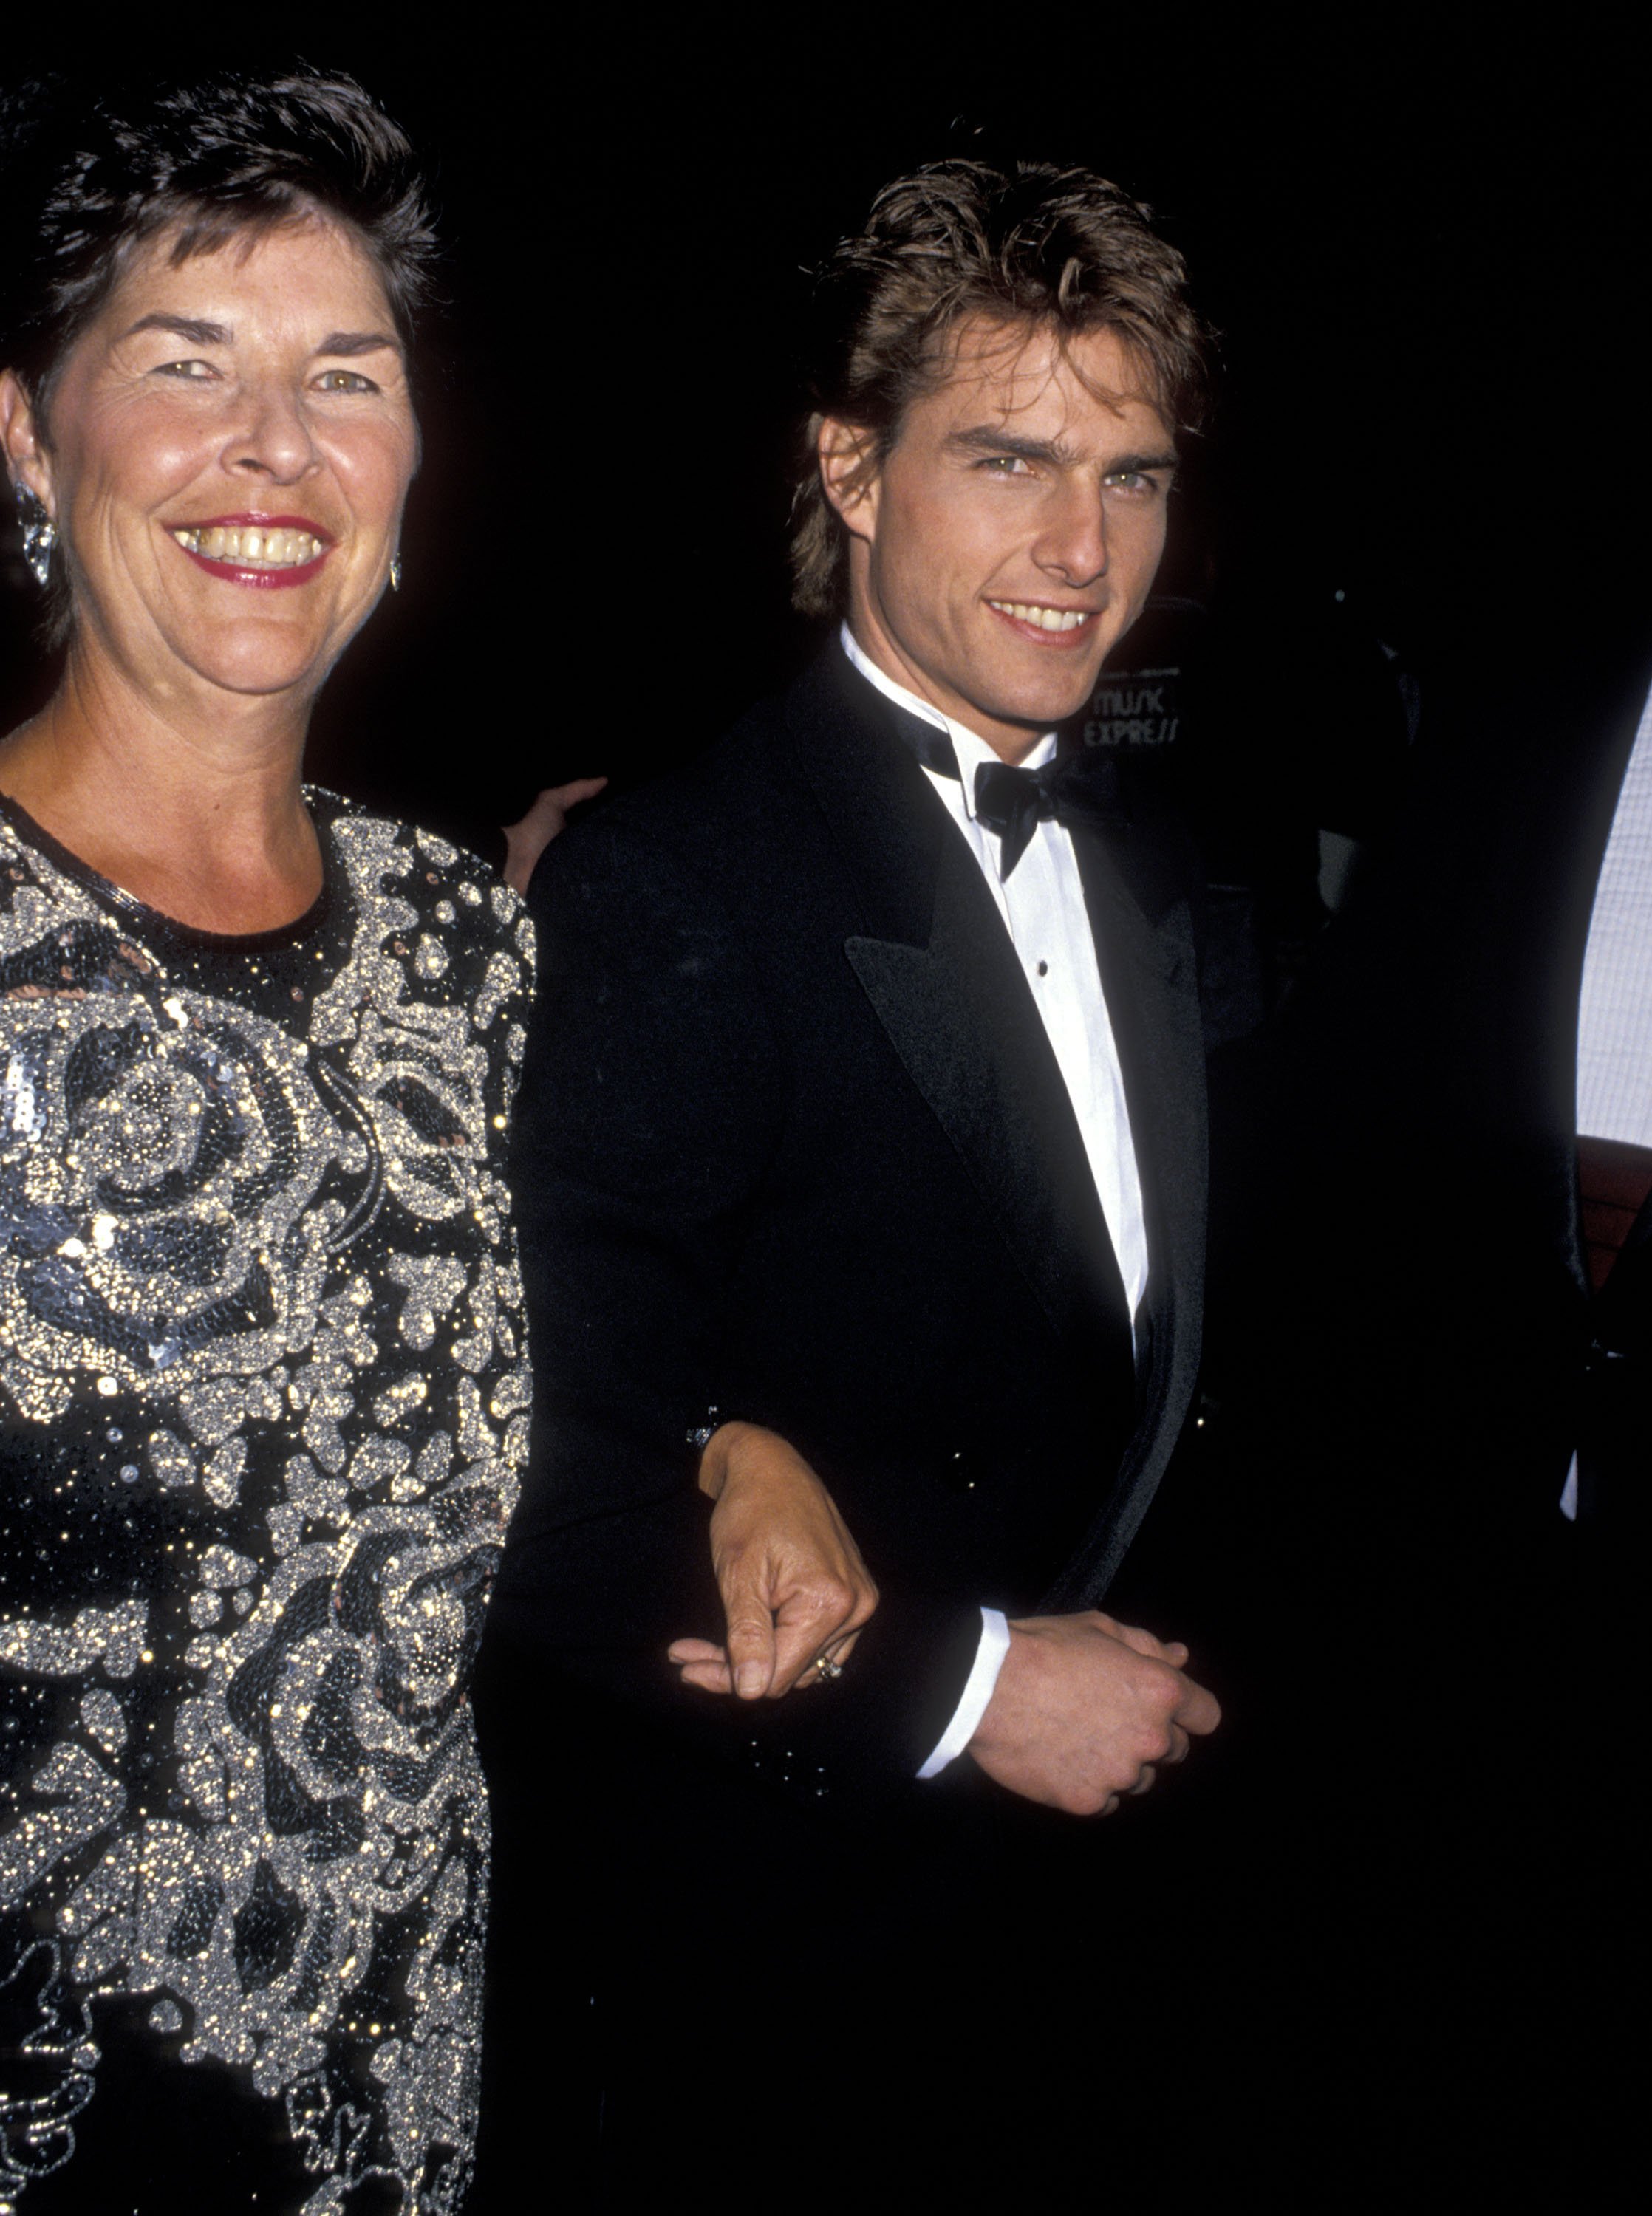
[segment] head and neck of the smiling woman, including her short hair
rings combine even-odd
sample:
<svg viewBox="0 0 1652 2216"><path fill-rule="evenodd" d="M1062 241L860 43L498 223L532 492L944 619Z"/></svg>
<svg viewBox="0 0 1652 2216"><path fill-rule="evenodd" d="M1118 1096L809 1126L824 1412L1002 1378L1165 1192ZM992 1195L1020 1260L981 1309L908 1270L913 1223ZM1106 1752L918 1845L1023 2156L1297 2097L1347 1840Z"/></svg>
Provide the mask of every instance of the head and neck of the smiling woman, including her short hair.
<svg viewBox="0 0 1652 2216"><path fill-rule="evenodd" d="M328 137L293 133L302 95L366 191ZM111 133L9 319L0 439L71 654L0 784L211 931L284 924L319 891L304 731L390 578L417 461L406 335L430 235L406 148L353 98L293 80L255 117L251 89L220 113L173 95L166 126L197 146L157 155L149 191L140 133Z"/></svg>

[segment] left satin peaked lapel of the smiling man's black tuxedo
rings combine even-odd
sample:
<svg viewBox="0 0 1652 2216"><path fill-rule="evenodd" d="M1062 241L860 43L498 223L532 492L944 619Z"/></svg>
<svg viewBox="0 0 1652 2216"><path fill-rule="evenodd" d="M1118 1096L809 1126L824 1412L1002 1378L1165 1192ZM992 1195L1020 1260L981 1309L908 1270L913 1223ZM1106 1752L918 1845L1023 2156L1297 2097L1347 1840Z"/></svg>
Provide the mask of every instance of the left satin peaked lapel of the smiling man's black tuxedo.
<svg viewBox="0 0 1652 2216"><path fill-rule="evenodd" d="M1129 1361L1078 1119L973 855L843 656L794 698L798 756L865 924L845 960L1051 1327L1073 1345L1113 1336Z"/></svg>

